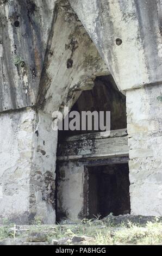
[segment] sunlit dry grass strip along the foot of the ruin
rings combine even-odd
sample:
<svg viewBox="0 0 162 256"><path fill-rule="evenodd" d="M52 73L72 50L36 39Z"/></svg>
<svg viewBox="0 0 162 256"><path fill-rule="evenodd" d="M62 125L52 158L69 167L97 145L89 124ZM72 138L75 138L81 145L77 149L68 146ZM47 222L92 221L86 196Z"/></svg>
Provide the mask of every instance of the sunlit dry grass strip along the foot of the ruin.
<svg viewBox="0 0 162 256"><path fill-rule="evenodd" d="M109 218L99 220L83 220L74 224L31 225L27 231L15 237L26 238L34 232L47 235L47 241L64 237L91 236L90 245L159 245L162 244L162 222L158 218L146 223L133 223L129 220L114 223ZM13 229L0 227L0 240L13 237Z"/></svg>

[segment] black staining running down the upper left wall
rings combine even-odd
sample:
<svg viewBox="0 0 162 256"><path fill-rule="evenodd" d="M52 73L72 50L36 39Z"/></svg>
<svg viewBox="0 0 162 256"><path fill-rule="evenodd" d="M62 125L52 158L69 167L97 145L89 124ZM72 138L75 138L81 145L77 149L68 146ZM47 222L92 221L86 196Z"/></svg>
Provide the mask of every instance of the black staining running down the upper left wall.
<svg viewBox="0 0 162 256"><path fill-rule="evenodd" d="M8 2L10 3L10 1ZM42 59L45 53L42 42L42 19L39 16L39 9L33 2L35 1L12 1L12 4L9 4L8 19L5 15L0 17L0 27L2 28L2 38L0 36L0 40L3 43L2 70L4 71L3 73L1 72L1 80L2 83L3 81L8 83L7 91L3 92L0 89L0 94L4 101L5 97L10 97L9 108L12 109L17 108L18 104L20 107L31 104L33 95L36 95L38 87L36 76L41 74L42 70ZM29 21L28 13L32 20L32 25ZM8 34L8 23L12 25L13 29L12 41ZM15 68L15 56L13 58L13 55L21 56L25 60L25 65L21 63L22 66L19 65ZM31 72L29 66L32 66ZM34 75L32 75L33 68L35 69ZM17 76L17 74L20 79L14 80L13 77ZM24 87L26 86L25 81L22 79L24 74L28 77L28 94L24 93ZM32 81L32 78L33 80L35 78L35 81ZM1 105L1 109L3 109L3 103L0 103L0 107Z"/></svg>

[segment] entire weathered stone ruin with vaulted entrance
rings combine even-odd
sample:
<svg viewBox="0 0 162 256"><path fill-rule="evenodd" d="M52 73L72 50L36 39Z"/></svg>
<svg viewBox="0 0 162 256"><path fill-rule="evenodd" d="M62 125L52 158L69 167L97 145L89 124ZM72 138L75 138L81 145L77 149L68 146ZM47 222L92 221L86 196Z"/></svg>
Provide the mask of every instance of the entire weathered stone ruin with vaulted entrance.
<svg viewBox="0 0 162 256"><path fill-rule="evenodd" d="M0 0L0 60L0 223L162 215L161 0Z"/></svg>

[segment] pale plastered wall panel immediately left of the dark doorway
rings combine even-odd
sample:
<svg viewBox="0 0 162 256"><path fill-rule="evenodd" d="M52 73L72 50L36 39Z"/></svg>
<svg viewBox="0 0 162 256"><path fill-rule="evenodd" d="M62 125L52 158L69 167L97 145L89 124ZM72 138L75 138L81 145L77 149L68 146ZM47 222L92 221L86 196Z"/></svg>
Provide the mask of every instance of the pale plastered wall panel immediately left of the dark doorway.
<svg viewBox="0 0 162 256"><path fill-rule="evenodd" d="M84 166L78 166L75 162L59 164L57 214L60 219L76 221L83 217L83 184Z"/></svg>

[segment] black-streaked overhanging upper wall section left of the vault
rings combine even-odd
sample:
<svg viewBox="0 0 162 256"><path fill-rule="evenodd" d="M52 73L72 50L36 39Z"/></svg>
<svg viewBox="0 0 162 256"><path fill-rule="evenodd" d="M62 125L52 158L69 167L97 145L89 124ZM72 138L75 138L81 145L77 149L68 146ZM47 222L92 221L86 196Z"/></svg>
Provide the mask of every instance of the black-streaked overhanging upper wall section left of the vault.
<svg viewBox="0 0 162 256"><path fill-rule="evenodd" d="M0 112L35 104L55 2L0 1Z"/></svg>

